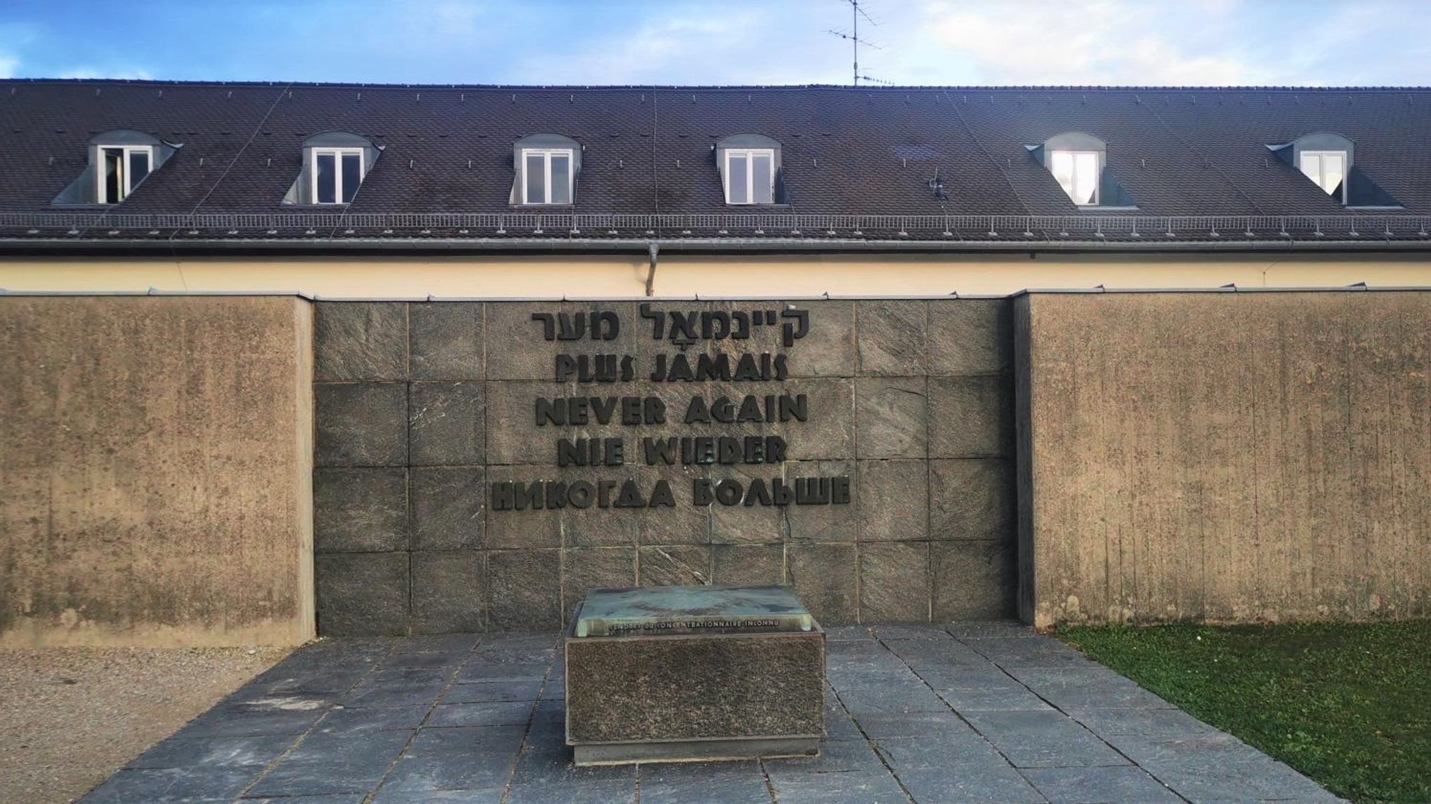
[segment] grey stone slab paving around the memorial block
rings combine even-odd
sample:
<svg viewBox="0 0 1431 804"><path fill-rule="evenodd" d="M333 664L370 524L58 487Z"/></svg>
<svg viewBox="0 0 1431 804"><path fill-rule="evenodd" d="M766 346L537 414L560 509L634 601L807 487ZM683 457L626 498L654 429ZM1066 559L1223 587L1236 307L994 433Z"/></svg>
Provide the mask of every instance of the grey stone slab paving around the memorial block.
<svg viewBox="0 0 1431 804"><path fill-rule="evenodd" d="M574 768L555 635L313 644L86 804L1339 801L1062 642L830 632L823 755Z"/></svg>

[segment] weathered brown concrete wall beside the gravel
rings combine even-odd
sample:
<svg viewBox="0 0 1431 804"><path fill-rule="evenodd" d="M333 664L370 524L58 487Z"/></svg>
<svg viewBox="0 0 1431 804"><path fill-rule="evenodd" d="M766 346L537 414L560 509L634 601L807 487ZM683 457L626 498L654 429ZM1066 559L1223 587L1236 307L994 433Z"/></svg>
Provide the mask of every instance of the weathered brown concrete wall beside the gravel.
<svg viewBox="0 0 1431 804"><path fill-rule="evenodd" d="M0 298L0 644L299 644L311 306Z"/></svg>

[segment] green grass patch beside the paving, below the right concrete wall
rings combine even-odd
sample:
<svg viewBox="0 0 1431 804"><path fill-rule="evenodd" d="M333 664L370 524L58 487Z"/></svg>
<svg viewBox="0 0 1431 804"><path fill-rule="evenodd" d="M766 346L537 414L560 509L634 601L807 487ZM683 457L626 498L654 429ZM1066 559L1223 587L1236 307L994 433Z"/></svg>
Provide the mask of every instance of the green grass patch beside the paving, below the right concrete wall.
<svg viewBox="0 0 1431 804"><path fill-rule="evenodd" d="M1431 622L1066 627L1059 637L1338 795L1431 803Z"/></svg>

